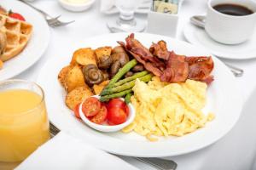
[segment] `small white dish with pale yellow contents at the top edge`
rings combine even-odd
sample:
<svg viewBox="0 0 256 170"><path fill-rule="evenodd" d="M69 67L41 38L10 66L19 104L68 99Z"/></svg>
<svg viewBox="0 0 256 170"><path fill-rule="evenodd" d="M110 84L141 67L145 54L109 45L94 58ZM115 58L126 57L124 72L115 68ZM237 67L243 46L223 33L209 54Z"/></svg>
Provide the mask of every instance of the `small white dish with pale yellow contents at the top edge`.
<svg viewBox="0 0 256 170"><path fill-rule="evenodd" d="M68 3L66 0L58 0L63 8L69 11L81 12L91 7L95 0L88 0L85 3Z"/></svg>

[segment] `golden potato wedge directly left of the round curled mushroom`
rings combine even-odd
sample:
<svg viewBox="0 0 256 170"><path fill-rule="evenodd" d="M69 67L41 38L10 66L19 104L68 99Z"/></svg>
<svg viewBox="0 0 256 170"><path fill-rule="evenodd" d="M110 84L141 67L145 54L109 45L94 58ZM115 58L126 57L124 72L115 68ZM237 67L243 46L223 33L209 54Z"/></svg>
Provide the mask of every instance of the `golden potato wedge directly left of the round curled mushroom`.
<svg viewBox="0 0 256 170"><path fill-rule="evenodd" d="M84 82L84 74L79 67L79 65L75 65L67 72L67 76L65 77L64 87L67 92L72 91L74 88L80 86L87 86Z"/></svg>

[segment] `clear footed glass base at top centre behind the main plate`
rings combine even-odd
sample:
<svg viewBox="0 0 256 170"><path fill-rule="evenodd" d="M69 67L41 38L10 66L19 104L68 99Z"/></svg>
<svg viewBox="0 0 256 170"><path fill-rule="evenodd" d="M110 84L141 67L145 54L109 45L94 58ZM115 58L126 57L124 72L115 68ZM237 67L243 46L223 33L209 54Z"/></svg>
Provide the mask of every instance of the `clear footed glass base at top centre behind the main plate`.
<svg viewBox="0 0 256 170"><path fill-rule="evenodd" d="M142 2L143 0L115 0L115 6L119 9L119 19L107 23L109 30L112 32L143 31L145 23L143 21L138 22L134 17L135 9Z"/></svg>

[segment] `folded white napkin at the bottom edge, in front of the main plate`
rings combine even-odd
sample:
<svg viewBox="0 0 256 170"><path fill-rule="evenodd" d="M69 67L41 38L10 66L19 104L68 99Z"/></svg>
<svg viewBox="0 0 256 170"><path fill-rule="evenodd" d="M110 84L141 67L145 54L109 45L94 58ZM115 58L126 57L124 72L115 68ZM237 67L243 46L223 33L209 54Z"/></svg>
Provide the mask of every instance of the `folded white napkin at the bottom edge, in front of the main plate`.
<svg viewBox="0 0 256 170"><path fill-rule="evenodd" d="M84 141L67 133L58 133L49 142L32 153L15 170L137 170L127 162L102 150L91 147Z"/></svg>

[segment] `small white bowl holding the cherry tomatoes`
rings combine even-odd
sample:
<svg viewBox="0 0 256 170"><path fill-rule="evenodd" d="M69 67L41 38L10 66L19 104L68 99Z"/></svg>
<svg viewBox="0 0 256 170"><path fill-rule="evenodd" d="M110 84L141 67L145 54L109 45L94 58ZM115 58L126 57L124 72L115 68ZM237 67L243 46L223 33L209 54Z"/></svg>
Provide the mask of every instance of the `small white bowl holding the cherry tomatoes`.
<svg viewBox="0 0 256 170"><path fill-rule="evenodd" d="M96 99L100 98L100 96L98 96L98 95L94 95L94 96L91 96L91 97L95 97ZM122 99L122 98L120 98L120 99ZM94 128L98 131L101 131L101 132L106 132L106 133L107 132L117 132L117 131L121 130L122 128L131 124L131 122L133 122L133 120L135 118L135 109L134 109L133 105L131 105L131 103L130 103L128 105L128 107L129 107L129 116L126 119L126 122L124 122L122 124L119 124L119 125L99 125L99 124L96 124L94 122L90 122L90 120L86 116L84 116L84 113L82 111L83 103L79 106L79 115L81 116L82 120L89 127L92 127L92 128Z"/></svg>

